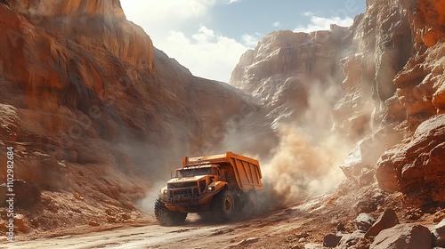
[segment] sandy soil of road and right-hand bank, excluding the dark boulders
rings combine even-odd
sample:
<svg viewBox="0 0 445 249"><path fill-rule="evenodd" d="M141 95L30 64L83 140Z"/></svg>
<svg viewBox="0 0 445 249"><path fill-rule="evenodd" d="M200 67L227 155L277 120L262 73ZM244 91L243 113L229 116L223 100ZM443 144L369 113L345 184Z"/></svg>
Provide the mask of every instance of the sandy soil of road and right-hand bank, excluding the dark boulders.
<svg viewBox="0 0 445 249"><path fill-rule="evenodd" d="M21 234L16 242L0 248L322 248L323 237L330 232L341 228L342 233L352 233L353 220L366 208L362 203L374 201L368 197L376 196L374 188L353 187L346 184L331 194L229 223L214 223L209 215L191 213L183 226L162 227L154 214L146 214L123 223ZM370 212L374 217L392 208L401 223L431 227L445 218L441 210L413 219L413 211L401 205L397 194L384 195L377 202L376 210ZM0 241L6 241L5 237L0 236Z"/></svg>

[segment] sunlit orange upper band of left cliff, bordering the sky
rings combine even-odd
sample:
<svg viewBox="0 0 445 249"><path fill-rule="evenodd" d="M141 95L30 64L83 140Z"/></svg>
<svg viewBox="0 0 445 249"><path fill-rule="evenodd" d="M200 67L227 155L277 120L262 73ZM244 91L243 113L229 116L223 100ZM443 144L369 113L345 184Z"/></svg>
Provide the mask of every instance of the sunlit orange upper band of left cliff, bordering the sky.
<svg viewBox="0 0 445 249"><path fill-rule="evenodd" d="M96 43L137 68L153 68L153 44L142 28L125 20L117 0L112 1L11 1L15 12L31 25L61 32L93 50ZM17 34L17 35L20 35ZM34 51L34 50L33 50Z"/></svg>

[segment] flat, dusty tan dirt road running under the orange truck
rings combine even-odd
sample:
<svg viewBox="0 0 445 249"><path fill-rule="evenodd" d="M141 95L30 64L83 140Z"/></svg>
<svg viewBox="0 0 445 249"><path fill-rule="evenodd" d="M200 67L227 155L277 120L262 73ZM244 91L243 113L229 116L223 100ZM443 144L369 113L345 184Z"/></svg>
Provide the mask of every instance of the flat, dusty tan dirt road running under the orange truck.
<svg viewBox="0 0 445 249"><path fill-rule="evenodd" d="M127 226L82 235L18 241L0 245L0 248L209 248L209 245L212 248L304 248L307 243L320 240L323 233L311 228L312 219L320 219L313 205L295 206L226 224L214 224L190 214L181 227ZM308 228L311 234L307 234ZM300 244L302 247L295 247Z"/></svg>

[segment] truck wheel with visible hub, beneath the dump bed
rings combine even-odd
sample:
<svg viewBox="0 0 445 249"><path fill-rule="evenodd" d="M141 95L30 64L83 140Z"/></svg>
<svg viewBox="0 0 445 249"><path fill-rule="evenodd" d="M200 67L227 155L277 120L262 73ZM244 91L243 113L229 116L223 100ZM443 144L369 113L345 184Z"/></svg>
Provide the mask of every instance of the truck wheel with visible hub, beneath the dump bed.
<svg viewBox="0 0 445 249"><path fill-rule="evenodd" d="M224 189L212 200L210 211L216 221L230 221L235 218L236 204L235 197L231 191Z"/></svg>

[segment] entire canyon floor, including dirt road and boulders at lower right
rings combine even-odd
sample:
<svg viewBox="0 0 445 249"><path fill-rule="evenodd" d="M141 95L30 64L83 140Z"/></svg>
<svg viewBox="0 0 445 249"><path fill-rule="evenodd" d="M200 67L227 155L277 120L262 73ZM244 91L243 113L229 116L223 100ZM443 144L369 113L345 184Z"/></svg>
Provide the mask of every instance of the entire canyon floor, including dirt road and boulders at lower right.
<svg viewBox="0 0 445 249"><path fill-rule="evenodd" d="M179 244L188 248L214 245L221 248L420 249L432 248L433 243L445 246L445 224L441 222L445 219L445 210L438 208L424 213L420 209L404 208L402 202L401 194L385 194L376 189L376 183L360 186L344 181L327 195L225 224L214 223L206 215L190 214L181 227L161 227L152 213L119 213L119 210L110 210L107 215L71 229L59 226L45 231L34 228L35 224L30 222L18 228L15 243L0 248L171 248ZM72 219L73 214L66 213L65 219L57 221L69 227L74 222ZM25 233L23 229L27 226L33 229ZM432 232L436 235L432 236ZM433 242L434 237L438 239Z"/></svg>

